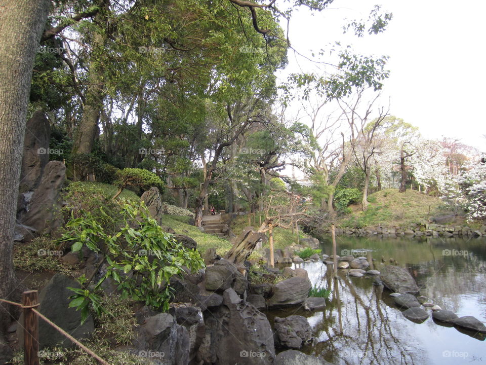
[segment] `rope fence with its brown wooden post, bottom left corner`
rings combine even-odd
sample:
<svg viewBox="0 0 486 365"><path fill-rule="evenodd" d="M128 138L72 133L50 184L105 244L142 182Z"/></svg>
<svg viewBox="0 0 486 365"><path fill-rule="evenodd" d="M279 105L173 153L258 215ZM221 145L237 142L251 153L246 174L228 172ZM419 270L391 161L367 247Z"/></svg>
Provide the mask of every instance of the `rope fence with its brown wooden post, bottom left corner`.
<svg viewBox="0 0 486 365"><path fill-rule="evenodd" d="M22 293L22 304L12 302L6 299L0 299L0 302L11 304L22 308L24 314L24 364L25 365L39 365L39 331L38 331L38 317L41 317L45 322L54 327L59 333L64 337L76 344L80 349L88 353L90 356L95 358L98 363L103 365L110 365L108 362L103 360L88 347L77 341L74 337L69 335L56 323L47 318L44 314L39 313L36 309L40 305L38 303L37 290L24 291Z"/></svg>

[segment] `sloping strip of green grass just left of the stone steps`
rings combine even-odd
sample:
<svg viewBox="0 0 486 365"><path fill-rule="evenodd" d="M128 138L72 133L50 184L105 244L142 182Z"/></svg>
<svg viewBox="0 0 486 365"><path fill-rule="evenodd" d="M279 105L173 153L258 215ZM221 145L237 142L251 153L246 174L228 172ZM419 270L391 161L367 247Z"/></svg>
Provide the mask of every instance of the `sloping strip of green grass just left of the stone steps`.
<svg viewBox="0 0 486 365"><path fill-rule="evenodd" d="M197 242L197 249L202 255L211 247L216 248L216 252L221 256L229 251L231 244L227 239L203 233L197 227L189 225L189 220L188 216L166 214L162 216L162 226L172 228L177 234L191 237Z"/></svg>

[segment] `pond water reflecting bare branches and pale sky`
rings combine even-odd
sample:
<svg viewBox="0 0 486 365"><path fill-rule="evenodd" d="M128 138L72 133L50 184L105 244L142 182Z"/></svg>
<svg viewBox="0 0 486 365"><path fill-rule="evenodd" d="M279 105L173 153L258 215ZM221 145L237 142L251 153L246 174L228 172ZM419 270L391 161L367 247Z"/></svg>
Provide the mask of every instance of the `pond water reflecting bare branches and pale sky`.
<svg viewBox="0 0 486 365"><path fill-rule="evenodd" d="M408 268L421 288L420 295L429 302L458 316L486 321L484 238L337 237L337 247L340 255L352 251L369 261L373 258L377 270L389 259L396 260ZM330 241L322 242L321 248L322 253L332 254ZM267 315L272 325L274 316L307 317L315 339L304 352L335 365L486 364L484 336L472 337L431 317L423 323L408 320L389 296L391 291L373 285L373 277L351 277L347 270L339 270L335 287L332 265L303 263L300 267L308 271L312 284L333 290L326 310L311 313L287 308Z"/></svg>

